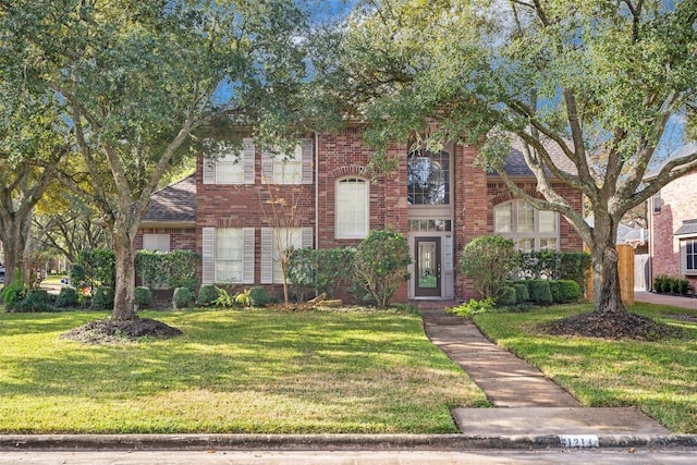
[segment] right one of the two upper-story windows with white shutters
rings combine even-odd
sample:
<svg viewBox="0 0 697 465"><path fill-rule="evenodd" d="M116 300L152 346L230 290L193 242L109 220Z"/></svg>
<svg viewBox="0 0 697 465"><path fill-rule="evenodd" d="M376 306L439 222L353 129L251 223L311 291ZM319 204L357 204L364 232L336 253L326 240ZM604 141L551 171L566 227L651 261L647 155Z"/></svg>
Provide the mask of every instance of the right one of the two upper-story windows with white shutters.
<svg viewBox="0 0 697 465"><path fill-rule="evenodd" d="M261 152L261 183L311 184L313 139L303 139L291 154Z"/></svg>

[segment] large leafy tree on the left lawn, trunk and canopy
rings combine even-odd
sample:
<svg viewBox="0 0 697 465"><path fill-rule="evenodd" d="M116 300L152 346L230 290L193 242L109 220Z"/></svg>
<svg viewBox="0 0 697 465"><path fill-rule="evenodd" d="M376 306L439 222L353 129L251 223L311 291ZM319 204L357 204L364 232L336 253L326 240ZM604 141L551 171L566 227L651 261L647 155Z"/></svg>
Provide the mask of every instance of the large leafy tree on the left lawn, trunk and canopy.
<svg viewBox="0 0 697 465"><path fill-rule="evenodd" d="M0 0L0 27L68 108L85 167L74 188L115 253L113 320L136 318L133 241L196 130L228 119L278 136L299 118L306 19L292 0Z"/></svg>

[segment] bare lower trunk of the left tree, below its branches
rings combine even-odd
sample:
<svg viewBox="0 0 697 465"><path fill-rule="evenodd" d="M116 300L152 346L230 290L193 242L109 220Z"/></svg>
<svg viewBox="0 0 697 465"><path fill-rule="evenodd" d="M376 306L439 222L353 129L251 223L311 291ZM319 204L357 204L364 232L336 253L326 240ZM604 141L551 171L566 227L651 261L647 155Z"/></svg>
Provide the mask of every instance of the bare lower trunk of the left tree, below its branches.
<svg viewBox="0 0 697 465"><path fill-rule="evenodd" d="M134 237L125 230L126 228L122 229L115 225L112 232L117 277L111 318L115 321L127 321L137 318L135 309Z"/></svg>

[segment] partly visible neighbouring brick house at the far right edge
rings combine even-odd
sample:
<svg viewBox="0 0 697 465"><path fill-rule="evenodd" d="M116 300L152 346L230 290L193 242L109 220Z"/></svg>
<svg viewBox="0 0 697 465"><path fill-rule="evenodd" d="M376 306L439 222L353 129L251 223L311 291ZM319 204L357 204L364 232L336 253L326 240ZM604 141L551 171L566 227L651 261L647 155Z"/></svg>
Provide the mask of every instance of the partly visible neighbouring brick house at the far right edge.
<svg viewBox="0 0 697 465"><path fill-rule="evenodd" d="M665 161L668 162L670 158ZM659 169L646 175L646 181ZM657 276L687 278L697 289L697 170L663 186L650 199L650 283Z"/></svg>

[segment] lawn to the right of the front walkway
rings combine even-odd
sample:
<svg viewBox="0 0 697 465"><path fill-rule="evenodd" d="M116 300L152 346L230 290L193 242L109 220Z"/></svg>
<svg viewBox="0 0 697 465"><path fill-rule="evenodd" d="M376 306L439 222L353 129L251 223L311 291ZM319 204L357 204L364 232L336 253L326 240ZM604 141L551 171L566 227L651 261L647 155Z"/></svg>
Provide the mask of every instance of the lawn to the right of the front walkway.
<svg viewBox="0 0 697 465"><path fill-rule="evenodd" d="M683 329L684 338L660 342L550 336L537 330L540 323L590 310L590 305L570 305L488 313L474 320L487 336L540 368L583 405L636 406L676 433L697 433L697 323L667 317L697 317L697 311L631 307Z"/></svg>

